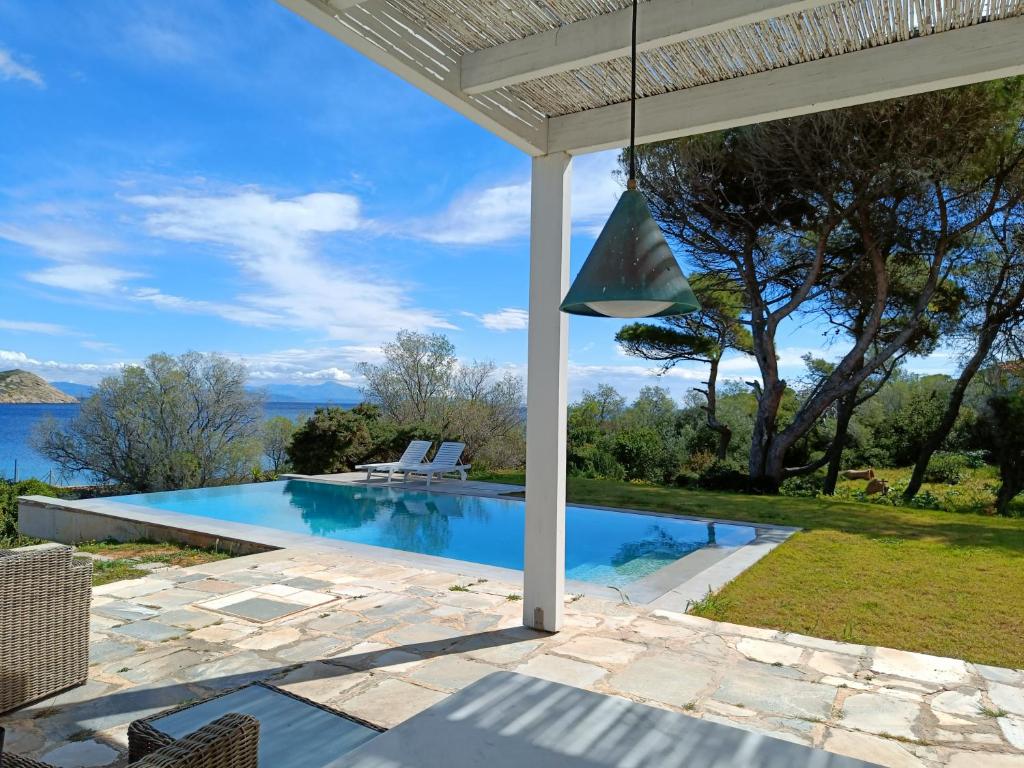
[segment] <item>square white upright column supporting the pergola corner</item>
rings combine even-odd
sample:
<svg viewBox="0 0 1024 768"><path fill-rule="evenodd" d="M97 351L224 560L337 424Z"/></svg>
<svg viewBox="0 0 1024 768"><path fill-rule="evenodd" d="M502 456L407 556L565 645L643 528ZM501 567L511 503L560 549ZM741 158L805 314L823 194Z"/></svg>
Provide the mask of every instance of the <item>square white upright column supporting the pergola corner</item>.
<svg viewBox="0 0 1024 768"><path fill-rule="evenodd" d="M565 591L565 409L571 157L534 159L526 374L523 624L557 632Z"/></svg>

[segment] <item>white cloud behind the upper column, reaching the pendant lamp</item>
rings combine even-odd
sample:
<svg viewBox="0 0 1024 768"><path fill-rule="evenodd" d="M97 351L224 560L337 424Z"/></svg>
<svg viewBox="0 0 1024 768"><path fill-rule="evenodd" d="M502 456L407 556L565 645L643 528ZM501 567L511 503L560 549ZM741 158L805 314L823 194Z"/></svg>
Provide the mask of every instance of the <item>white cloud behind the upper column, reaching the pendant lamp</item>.
<svg viewBox="0 0 1024 768"><path fill-rule="evenodd" d="M596 234L622 194L613 175L617 153L578 158L572 169L572 221ZM404 227L432 243L480 245L501 243L529 233L529 180L463 191L449 207Z"/></svg>

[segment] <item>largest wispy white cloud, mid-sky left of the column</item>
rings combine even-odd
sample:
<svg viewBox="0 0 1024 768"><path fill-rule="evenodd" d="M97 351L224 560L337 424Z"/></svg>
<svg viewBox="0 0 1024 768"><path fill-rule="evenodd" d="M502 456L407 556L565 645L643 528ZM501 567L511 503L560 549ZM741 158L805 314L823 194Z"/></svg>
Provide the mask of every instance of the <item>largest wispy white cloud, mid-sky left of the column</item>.
<svg viewBox="0 0 1024 768"><path fill-rule="evenodd" d="M228 310L240 323L315 329L335 339L380 339L403 328L452 328L437 313L411 306L404 286L364 264L324 255L325 236L370 226L351 195L315 193L283 200L246 189L221 196L137 196L129 202L147 211L146 225L158 237L225 248L257 286L238 297L240 307ZM139 298L200 308L159 293Z"/></svg>

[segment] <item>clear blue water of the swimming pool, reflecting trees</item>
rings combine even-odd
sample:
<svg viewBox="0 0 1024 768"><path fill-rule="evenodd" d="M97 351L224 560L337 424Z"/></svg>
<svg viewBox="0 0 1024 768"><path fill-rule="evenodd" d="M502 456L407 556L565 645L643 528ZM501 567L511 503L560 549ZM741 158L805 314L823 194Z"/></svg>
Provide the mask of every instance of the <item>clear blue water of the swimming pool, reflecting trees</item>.
<svg viewBox="0 0 1024 768"><path fill-rule="evenodd" d="M282 480L108 501L522 569L525 505L400 487ZM702 547L754 541L746 525L565 509L565 575L622 587Z"/></svg>

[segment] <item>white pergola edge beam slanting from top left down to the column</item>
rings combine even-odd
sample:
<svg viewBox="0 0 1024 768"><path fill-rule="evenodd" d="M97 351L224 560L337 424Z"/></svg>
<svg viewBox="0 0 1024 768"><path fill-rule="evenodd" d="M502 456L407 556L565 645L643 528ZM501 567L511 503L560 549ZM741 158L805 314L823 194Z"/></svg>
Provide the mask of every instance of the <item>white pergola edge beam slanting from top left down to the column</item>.
<svg viewBox="0 0 1024 768"><path fill-rule="evenodd" d="M503 102L463 93L460 57L382 0L278 0L333 37L528 155L545 153L546 124Z"/></svg>

